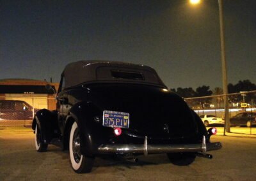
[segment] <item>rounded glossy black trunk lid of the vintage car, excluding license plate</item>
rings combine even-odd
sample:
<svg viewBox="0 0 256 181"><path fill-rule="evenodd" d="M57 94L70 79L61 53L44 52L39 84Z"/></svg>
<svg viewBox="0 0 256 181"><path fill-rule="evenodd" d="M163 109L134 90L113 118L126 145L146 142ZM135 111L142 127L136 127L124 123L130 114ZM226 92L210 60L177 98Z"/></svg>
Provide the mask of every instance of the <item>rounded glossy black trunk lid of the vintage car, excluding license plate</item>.
<svg viewBox="0 0 256 181"><path fill-rule="evenodd" d="M130 136L188 137L197 133L191 110L182 98L166 89L136 84L88 86L92 102L104 110L129 113Z"/></svg>

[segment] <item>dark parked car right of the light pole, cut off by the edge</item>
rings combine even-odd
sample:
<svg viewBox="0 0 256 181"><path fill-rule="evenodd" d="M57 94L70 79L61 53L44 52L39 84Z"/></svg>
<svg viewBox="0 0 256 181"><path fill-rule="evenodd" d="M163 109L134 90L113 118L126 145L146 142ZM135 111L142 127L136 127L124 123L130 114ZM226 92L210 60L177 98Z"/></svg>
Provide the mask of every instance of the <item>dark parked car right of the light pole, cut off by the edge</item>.
<svg viewBox="0 0 256 181"><path fill-rule="evenodd" d="M247 126L252 127L256 125L256 112L238 113L230 118L230 126Z"/></svg>

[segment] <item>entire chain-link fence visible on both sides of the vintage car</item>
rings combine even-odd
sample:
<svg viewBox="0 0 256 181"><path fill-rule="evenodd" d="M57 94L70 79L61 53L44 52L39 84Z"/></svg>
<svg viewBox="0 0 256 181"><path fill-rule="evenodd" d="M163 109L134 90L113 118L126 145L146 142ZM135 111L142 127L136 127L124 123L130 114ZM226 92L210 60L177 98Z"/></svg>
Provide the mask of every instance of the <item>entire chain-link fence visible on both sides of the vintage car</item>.
<svg viewBox="0 0 256 181"><path fill-rule="evenodd" d="M243 133L256 134L256 91L228 94L230 130L243 127ZM222 126L225 122L224 95L185 98L205 126ZM31 126L35 113L56 109L54 96L0 96L0 126Z"/></svg>

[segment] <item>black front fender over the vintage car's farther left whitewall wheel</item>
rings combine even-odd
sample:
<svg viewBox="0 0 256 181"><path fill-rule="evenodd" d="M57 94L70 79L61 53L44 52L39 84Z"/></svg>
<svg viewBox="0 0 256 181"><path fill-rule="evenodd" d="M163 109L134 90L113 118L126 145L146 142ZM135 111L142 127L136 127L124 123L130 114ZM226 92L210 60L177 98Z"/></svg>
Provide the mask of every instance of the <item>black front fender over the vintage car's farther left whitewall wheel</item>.
<svg viewBox="0 0 256 181"><path fill-rule="evenodd" d="M40 141L50 143L54 138L54 131L58 129L58 116L55 111L51 112L47 109L42 109L36 112L32 122L32 129L35 130L36 124L40 129ZM56 131L55 131L56 132Z"/></svg>

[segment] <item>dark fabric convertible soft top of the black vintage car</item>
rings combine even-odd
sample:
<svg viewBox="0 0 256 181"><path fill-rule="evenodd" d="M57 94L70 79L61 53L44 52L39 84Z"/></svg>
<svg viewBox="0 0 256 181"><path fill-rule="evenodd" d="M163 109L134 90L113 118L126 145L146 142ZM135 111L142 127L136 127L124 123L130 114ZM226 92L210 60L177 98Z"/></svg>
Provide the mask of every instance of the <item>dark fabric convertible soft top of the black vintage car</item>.
<svg viewBox="0 0 256 181"><path fill-rule="evenodd" d="M111 61L78 61L68 64L62 75L65 88L86 82L129 82L166 85L149 66Z"/></svg>

